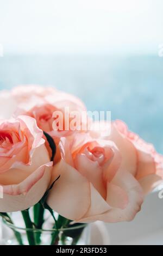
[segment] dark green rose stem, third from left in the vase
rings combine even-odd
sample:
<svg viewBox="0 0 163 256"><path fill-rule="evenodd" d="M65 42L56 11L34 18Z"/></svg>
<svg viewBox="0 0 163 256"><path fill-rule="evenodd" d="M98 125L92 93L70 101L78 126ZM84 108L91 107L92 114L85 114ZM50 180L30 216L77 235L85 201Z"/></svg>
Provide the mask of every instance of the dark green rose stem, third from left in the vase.
<svg viewBox="0 0 163 256"><path fill-rule="evenodd" d="M42 207L42 205L40 203L37 203L34 205L34 224L36 226L37 229L42 229L42 225L43 225L43 215L44 215L44 208ZM35 233L35 238L36 238L36 243L37 245L40 245L41 243L41 232L36 232Z"/></svg>

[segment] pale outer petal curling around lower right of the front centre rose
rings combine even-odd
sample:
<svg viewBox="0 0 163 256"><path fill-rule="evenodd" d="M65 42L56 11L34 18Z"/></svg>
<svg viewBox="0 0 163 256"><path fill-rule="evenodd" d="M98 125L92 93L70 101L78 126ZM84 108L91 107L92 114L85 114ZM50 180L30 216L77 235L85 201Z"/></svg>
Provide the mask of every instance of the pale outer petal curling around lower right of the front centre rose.
<svg viewBox="0 0 163 256"><path fill-rule="evenodd" d="M85 218L77 220L76 222L88 223L99 220L111 223L133 220L137 212L140 211L140 207L143 202L143 192L139 182L137 182L130 173L120 170L116 173L111 183L116 186L120 186L122 190L127 193L128 204L126 208L112 208L104 214L90 217L84 216Z"/></svg>

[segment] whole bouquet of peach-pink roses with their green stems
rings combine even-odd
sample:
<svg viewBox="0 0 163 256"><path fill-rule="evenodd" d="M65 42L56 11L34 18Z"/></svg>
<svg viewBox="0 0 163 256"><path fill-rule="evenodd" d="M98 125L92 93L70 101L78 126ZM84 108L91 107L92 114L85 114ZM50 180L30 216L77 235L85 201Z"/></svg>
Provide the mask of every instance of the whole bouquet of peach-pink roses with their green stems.
<svg viewBox="0 0 163 256"><path fill-rule="evenodd" d="M77 244L85 223L133 220L162 181L163 157L122 121L103 121L108 134L94 129L98 122L82 129L89 118L80 118L86 107L77 97L20 86L2 91L0 104L0 212L20 245L12 212L21 212L29 245L41 244L49 215L47 243Z"/></svg>

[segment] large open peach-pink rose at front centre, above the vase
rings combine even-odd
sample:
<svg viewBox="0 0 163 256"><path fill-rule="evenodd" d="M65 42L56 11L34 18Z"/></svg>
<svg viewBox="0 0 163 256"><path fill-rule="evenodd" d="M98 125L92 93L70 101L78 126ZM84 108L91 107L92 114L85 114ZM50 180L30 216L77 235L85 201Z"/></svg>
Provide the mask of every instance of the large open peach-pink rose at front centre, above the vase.
<svg viewBox="0 0 163 256"><path fill-rule="evenodd" d="M61 160L53 167L52 181L59 174L60 179L47 198L53 210L76 222L134 218L143 192L133 174L122 168L116 143L79 133L61 138L59 149Z"/></svg>

